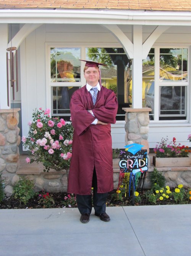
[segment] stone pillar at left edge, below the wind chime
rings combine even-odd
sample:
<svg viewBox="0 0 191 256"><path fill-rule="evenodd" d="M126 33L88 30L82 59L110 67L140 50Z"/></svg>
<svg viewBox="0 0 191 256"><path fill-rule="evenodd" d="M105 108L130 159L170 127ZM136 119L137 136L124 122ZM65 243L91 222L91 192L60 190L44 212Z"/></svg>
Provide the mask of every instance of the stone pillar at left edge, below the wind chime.
<svg viewBox="0 0 191 256"><path fill-rule="evenodd" d="M19 111L20 109L0 109L0 172L5 180L5 193L12 194L13 181L18 178ZM13 118L14 116L14 118Z"/></svg>

